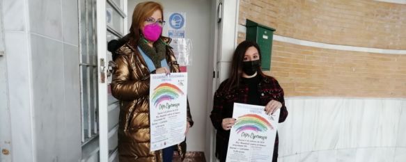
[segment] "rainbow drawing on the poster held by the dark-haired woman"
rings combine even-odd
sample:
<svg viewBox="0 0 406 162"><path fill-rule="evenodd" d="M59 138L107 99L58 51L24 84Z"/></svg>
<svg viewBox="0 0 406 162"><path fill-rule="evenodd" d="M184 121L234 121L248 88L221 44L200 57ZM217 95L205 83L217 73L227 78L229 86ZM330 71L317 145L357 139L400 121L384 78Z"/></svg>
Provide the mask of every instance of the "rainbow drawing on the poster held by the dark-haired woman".
<svg viewBox="0 0 406 162"><path fill-rule="evenodd" d="M256 132L267 131L267 129L274 129L271 123L265 118L256 114L247 114L238 117L237 123L235 123L235 131L240 133L241 131L251 130Z"/></svg>

